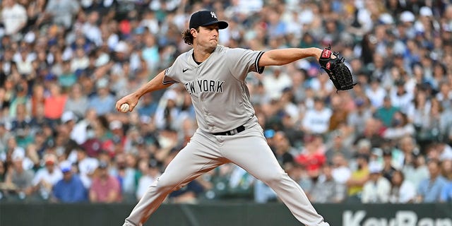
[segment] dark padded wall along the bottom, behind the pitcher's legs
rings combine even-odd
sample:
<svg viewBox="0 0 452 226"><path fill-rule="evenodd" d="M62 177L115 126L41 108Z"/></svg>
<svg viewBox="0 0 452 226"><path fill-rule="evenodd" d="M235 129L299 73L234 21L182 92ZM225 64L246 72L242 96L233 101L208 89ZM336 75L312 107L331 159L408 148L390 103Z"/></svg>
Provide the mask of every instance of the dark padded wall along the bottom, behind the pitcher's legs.
<svg viewBox="0 0 452 226"><path fill-rule="evenodd" d="M452 226L452 204L317 204L332 226ZM0 226L121 226L128 204L0 203ZM145 225L300 225L280 203L162 205Z"/></svg>

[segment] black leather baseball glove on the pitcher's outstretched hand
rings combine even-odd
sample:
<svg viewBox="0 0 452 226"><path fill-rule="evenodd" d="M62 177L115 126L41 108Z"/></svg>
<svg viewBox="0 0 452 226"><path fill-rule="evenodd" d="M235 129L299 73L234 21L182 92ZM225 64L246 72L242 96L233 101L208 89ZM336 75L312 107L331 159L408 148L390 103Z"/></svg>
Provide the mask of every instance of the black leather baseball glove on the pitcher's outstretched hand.
<svg viewBox="0 0 452 226"><path fill-rule="evenodd" d="M333 56L334 58L332 58ZM331 81L333 81L337 89L336 92L339 90L350 90L353 88L353 85L356 85L356 83L353 83L352 73L345 66L344 60L343 57L339 57L337 52L331 51L331 45L323 49L319 59L321 68L328 73Z"/></svg>

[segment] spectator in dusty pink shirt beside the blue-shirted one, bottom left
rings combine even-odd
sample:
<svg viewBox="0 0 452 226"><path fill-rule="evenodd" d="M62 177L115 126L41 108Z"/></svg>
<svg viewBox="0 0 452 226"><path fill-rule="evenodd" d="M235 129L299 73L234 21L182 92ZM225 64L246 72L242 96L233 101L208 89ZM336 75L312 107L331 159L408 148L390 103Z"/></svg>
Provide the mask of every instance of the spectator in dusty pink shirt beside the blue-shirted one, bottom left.
<svg viewBox="0 0 452 226"><path fill-rule="evenodd" d="M93 184L90 187L90 202L117 203L122 200L121 185L116 177L108 172L107 162L100 162Z"/></svg>

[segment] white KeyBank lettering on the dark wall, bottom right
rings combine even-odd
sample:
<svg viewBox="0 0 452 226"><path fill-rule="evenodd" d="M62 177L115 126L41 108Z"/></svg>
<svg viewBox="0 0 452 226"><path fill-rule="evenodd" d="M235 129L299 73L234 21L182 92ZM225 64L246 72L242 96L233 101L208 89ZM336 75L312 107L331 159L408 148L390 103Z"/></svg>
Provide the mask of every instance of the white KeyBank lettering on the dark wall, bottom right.
<svg viewBox="0 0 452 226"><path fill-rule="evenodd" d="M452 226L451 218L420 218L416 212L398 210L395 217L381 218L367 215L366 210L345 210L343 226Z"/></svg>

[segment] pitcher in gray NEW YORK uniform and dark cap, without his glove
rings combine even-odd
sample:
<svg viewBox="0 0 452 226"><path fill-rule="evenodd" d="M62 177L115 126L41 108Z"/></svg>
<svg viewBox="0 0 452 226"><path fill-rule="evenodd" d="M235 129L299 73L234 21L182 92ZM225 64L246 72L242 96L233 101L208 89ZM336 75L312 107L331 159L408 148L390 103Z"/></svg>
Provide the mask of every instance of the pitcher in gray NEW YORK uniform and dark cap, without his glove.
<svg viewBox="0 0 452 226"><path fill-rule="evenodd" d="M142 225L174 189L226 162L233 162L268 184L299 222L328 225L278 164L258 124L245 82L250 72L263 73L266 66L281 66L308 57L318 60L323 49L263 52L228 48L218 44L219 30L227 26L213 11L193 13L189 28L182 33L184 42L193 48L180 54L172 66L151 81L117 101L118 112L124 104L129 105L131 112L146 93L180 83L191 96L198 122L191 142L174 157L158 183L149 187L124 226Z"/></svg>

